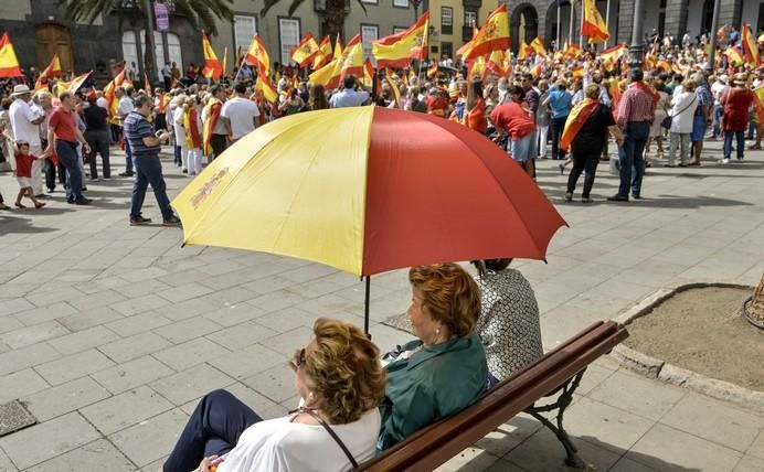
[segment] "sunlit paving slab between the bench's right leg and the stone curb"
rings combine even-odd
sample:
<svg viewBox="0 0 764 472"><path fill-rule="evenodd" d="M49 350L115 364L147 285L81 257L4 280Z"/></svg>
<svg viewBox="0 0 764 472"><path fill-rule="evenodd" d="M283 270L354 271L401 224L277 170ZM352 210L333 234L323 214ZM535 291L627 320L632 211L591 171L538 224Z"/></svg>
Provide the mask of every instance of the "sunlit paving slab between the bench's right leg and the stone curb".
<svg viewBox="0 0 764 472"><path fill-rule="evenodd" d="M594 388L588 397L641 417L659 420L685 396L685 390L671 388L624 372L616 372Z"/></svg>

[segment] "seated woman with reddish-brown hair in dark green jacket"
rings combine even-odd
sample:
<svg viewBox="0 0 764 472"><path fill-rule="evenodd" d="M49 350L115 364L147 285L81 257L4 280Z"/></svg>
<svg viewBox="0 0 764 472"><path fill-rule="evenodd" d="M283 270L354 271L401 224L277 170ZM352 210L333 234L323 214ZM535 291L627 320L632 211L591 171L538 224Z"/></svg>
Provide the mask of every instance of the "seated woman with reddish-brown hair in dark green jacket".
<svg viewBox="0 0 764 472"><path fill-rule="evenodd" d="M418 429L457 414L486 389L486 353L475 332L480 290L456 264L414 267L408 271L412 332L388 364L382 428L383 451Z"/></svg>

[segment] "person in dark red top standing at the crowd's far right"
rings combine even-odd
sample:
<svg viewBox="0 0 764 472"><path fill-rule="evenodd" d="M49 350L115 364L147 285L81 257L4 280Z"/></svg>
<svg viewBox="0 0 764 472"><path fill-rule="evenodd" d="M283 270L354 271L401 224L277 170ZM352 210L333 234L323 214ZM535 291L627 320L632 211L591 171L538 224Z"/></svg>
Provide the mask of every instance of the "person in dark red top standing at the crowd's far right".
<svg viewBox="0 0 764 472"><path fill-rule="evenodd" d="M724 130L724 159L723 163L730 163L730 154L732 154L732 138L736 140L735 150L738 151L738 160L743 160L745 150L745 128L749 125L749 107L753 104L753 92L746 86L747 76L735 74L731 87L719 100L724 106L724 118L722 119L722 129Z"/></svg>

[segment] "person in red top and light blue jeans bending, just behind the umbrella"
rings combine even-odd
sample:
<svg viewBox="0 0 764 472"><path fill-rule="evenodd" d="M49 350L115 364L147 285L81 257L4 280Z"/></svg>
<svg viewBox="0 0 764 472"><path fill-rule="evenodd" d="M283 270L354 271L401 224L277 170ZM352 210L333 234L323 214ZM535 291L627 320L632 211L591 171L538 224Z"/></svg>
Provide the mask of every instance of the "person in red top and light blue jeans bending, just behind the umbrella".
<svg viewBox="0 0 764 472"><path fill-rule="evenodd" d="M512 101L494 108L490 118L499 132L499 138L505 135L509 137L508 151L512 154L512 159L522 165L531 179L535 179L535 165L533 163L538 155L535 122L533 122L529 110L520 105L524 96L522 87L511 87L509 94Z"/></svg>

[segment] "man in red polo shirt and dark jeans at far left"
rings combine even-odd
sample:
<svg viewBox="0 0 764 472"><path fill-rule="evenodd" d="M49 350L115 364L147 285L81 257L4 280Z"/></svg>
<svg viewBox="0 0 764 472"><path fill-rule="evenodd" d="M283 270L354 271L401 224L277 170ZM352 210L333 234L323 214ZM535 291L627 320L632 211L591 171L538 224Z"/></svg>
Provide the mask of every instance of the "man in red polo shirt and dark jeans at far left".
<svg viewBox="0 0 764 472"><path fill-rule="evenodd" d="M91 201L82 194L82 171L79 170L79 155L77 146L82 143L85 153L91 152L91 148L85 137L77 128L74 118L75 103L71 93L64 92L59 97L61 106L52 114L47 124L47 149L45 154L55 153L59 162L66 169L66 203L76 205L88 205Z"/></svg>

